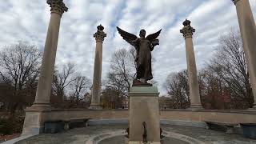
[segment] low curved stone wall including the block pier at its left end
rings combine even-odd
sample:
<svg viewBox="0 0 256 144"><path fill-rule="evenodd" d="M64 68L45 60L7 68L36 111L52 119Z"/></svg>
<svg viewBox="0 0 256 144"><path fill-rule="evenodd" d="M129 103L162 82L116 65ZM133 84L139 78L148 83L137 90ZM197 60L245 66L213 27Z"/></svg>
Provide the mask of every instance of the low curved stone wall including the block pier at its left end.
<svg viewBox="0 0 256 144"><path fill-rule="evenodd" d="M128 110L27 110L22 134L42 133L44 122L91 118L93 123L106 120L106 123L128 122ZM116 121L113 121L113 120ZM249 110L165 110L160 111L162 123L181 123L190 126L204 124L203 121L256 123L256 111ZM105 122L105 121L104 121ZM185 122L185 123L184 123ZM192 124L191 124L192 125ZM194 125L192 125L194 126ZM203 126L201 126L203 127Z"/></svg>

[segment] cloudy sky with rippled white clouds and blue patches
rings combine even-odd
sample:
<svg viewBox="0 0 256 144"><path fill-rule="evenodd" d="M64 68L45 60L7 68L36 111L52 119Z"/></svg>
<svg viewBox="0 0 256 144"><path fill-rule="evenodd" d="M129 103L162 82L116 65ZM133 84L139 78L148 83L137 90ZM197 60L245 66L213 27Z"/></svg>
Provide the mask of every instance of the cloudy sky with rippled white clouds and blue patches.
<svg viewBox="0 0 256 144"><path fill-rule="evenodd" d="M69 11L62 16L58 41L57 66L77 63L77 69L93 77L95 40L99 24L105 26L102 74L106 78L111 54L130 46L122 40L115 26L138 34L162 29L160 46L153 51L154 80L162 84L170 72L186 69L185 42L179 30L188 18L196 29L194 50L198 69L210 60L218 37L238 29L238 18L231 0L64 0ZM256 19L256 0L250 0ZM50 7L46 0L0 0L0 50L19 40L43 50Z"/></svg>

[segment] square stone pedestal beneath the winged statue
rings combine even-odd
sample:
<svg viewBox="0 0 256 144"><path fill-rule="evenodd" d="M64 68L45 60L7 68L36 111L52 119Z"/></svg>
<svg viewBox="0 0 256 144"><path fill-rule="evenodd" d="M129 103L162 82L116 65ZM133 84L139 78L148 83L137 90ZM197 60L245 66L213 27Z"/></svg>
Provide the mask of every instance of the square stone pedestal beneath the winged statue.
<svg viewBox="0 0 256 144"><path fill-rule="evenodd" d="M133 86L130 89L129 144L142 143L146 122L146 139L160 144L160 121L158 88L156 86Z"/></svg>

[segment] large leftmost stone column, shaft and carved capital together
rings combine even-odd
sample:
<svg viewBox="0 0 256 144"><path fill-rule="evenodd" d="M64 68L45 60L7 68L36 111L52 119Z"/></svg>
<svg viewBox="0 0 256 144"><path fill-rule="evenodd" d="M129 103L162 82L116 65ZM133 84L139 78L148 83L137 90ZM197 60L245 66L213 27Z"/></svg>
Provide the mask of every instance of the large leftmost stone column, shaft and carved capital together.
<svg viewBox="0 0 256 144"><path fill-rule="evenodd" d="M62 0L47 0L50 5L50 24L46 36L45 50L38 81L38 88L32 107L50 107L50 90L54 74L54 63L58 45L59 26L62 14L68 10Z"/></svg>

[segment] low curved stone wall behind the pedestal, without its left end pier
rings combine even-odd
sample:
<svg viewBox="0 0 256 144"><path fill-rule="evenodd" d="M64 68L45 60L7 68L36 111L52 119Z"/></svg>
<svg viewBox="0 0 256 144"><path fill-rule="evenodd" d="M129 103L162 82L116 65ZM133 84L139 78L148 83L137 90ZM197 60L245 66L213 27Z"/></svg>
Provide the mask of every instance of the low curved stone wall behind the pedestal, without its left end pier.
<svg viewBox="0 0 256 144"><path fill-rule="evenodd" d="M50 113L50 114L49 114ZM127 119L128 110L66 110L43 113L42 118L59 120L69 118ZM248 110L166 110L160 112L160 119L203 122L256 122L256 112Z"/></svg>

